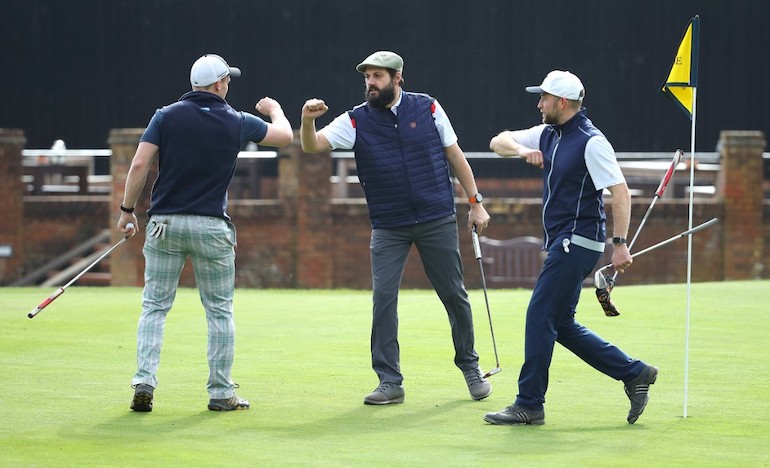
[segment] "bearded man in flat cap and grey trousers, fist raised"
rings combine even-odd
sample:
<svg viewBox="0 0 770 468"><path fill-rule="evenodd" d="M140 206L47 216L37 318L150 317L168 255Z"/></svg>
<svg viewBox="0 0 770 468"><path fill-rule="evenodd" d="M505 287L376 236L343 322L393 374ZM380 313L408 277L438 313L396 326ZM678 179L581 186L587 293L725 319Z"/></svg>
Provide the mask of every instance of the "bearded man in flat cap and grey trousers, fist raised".
<svg viewBox="0 0 770 468"><path fill-rule="evenodd" d="M473 317L463 283L454 189L449 168L469 197L468 229L489 223L465 154L438 101L402 90L403 59L375 52L356 70L364 75L366 102L340 114L316 132L315 119L328 107L320 99L302 108L300 135L307 153L353 149L372 223L372 368L377 388L368 405L404 401L398 344L398 290L407 256L417 246L425 272L449 316L455 365L471 397L492 388L474 349Z"/></svg>

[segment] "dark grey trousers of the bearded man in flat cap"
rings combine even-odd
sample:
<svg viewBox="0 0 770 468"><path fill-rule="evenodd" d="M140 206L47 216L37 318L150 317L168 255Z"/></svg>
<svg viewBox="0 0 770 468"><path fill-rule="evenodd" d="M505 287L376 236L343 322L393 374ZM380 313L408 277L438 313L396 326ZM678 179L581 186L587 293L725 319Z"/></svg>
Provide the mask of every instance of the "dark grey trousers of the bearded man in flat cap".
<svg viewBox="0 0 770 468"><path fill-rule="evenodd" d="M444 304L452 330L455 365L478 365L473 316L463 283L455 216L396 229L373 229L370 244L373 285L372 368L380 383L401 384L398 346L398 290L414 244L433 289Z"/></svg>

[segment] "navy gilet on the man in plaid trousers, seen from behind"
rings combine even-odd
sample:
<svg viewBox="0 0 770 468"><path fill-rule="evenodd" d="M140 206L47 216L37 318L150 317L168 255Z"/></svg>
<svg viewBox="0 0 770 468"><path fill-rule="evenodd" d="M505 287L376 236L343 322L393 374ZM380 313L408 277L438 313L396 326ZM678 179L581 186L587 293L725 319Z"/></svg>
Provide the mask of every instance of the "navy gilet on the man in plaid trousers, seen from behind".
<svg viewBox="0 0 770 468"><path fill-rule="evenodd" d="M229 219L227 187L241 150L241 113L204 91L189 92L162 110L159 171L148 214Z"/></svg>

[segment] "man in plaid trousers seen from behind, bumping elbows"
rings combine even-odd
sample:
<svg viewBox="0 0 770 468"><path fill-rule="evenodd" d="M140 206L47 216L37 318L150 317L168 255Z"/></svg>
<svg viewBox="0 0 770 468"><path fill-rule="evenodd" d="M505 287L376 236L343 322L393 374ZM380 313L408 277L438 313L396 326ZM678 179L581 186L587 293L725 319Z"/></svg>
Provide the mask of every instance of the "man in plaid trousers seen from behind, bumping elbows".
<svg viewBox="0 0 770 468"><path fill-rule="evenodd" d="M235 353L236 239L226 213L227 187L246 143L287 146L293 132L281 105L269 97L256 108L271 123L230 107L225 101L230 79L239 76L241 71L218 55L196 60L190 69L192 91L155 112L131 161L118 220L123 235L138 230L134 207L150 168L156 159L159 163L143 250L145 284L137 330L138 368L132 379L133 411L152 411L166 315L187 257L192 259L209 330L208 408L249 407L235 394L230 375Z"/></svg>

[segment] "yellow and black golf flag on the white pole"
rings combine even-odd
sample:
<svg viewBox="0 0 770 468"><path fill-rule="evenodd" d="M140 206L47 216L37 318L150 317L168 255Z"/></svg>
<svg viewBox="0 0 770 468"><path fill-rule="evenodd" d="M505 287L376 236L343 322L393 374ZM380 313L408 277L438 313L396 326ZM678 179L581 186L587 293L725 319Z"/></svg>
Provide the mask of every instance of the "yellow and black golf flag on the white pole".
<svg viewBox="0 0 770 468"><path fill-rule="evenodd" d="M698 86L699 40L700 17L696 15L687 25L674 59L674 65L661 89L664 94L679 105L690 119L692 119L694 90Z"/></svg>

